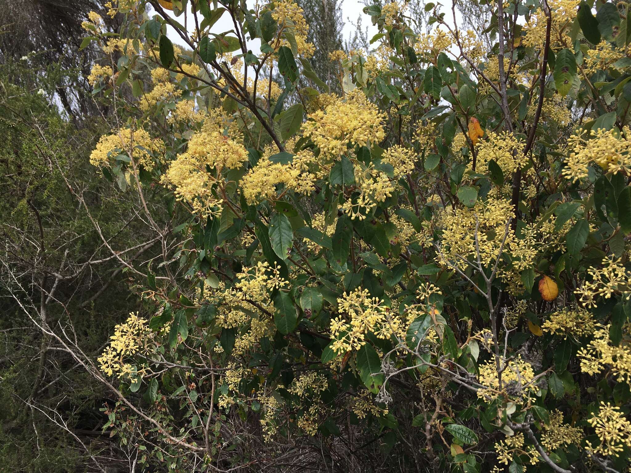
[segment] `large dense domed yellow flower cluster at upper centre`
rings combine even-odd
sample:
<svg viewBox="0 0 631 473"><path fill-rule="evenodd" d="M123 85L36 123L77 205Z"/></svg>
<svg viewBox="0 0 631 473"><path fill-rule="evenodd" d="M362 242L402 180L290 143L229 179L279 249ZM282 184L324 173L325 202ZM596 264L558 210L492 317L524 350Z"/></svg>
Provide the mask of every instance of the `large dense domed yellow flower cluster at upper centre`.
<svg viewBox="0 0 631 473"><path fill-rule="evenodd" d="M385 115L361 90L337 98L324 110L309 114L308 118L302 126L304 136L312 139L322 156L332 160L339 160L347 152L349 143L370 146L386 136L382 125Z"/></svg>

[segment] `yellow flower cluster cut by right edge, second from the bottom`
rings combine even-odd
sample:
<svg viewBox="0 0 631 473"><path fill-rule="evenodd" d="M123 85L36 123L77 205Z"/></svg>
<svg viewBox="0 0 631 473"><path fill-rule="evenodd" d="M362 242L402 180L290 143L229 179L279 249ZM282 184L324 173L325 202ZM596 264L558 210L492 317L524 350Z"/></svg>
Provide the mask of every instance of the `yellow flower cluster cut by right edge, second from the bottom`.
<svg viewBox="0 0 631 473"><path fill-rule="evenodd" d="M597 375L609 369L618 382L627 382L631 386L631 337L630 325L623 326L623 339L615 345L609 337L611 325L598 325L594 339L587 348L579 349L577 356L581 358L581 371L589 375Z"/></svg>

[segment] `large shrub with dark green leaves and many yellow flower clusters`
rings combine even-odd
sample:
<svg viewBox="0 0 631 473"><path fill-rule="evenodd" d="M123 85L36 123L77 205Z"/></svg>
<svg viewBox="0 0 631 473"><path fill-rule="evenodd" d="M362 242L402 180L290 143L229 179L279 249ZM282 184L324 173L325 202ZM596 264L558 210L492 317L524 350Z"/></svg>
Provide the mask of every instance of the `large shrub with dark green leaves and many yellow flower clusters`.
<svg viewBox="0 0 631 473"><path fill-rule="evenodd" d="M98 363L143 464L627 469L625 3L490 3L491 49L440 5L429 32L367 6L341 95L292 0L109 7L89 80L123 119L90 162L162 252Z"/></svg>

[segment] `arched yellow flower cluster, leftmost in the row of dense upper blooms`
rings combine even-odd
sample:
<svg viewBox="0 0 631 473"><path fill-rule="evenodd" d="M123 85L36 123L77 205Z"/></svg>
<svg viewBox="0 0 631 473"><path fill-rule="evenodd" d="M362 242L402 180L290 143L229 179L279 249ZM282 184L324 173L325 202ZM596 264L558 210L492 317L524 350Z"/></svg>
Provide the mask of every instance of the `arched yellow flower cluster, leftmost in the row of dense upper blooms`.
<svg viewBox="0 0 631 473"><path fill-rule="evenodd" d="M115 134L100 137L97 148L90 154L90 163L93 166L110 166L112 158L121 154L133 158L136 164L151 171L155 165L153 158L163 150L162 140L151 139L143 129L121 128Z"/></svg>

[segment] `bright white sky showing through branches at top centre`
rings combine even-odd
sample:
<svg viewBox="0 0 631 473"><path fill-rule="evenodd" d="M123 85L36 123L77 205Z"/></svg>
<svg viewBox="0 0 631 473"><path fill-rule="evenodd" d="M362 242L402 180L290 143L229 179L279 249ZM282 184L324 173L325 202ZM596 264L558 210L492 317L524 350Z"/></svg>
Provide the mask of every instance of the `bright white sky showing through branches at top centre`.
<svg viewBox="0 0 631 473"><path fill-rule="evenodd" d="M247 0L247 5L253 8L254 0ZM360 3L360 1L358 0L343 0L342 18L344 21L344 28L343 28L344 40L348 40L348 38L350 38L355 32L355 22L357 21L357 17L359 15L362 15L363 28L365 28L366 26L369 27L369 39L375 33L377 33L376 26L372 26L372 23L370 22L370 16L365 15L362 9L363 9L363 4ZM187 9L187 14L189 15L187 18L187 27L189 29L191 28L191 25L194 23L194 20L190 12L191 12L191 9L190 9L190 3L189 3L189 8ZM171 12L167 12L167 13L171 13ZM174 15L171 15L171 16L173 16L175 20L179 21L180 24L184 25L184 13L182 13L182 15L178 17L175 17ZM350 18L350 21L349 21L349 18ZM224 15L221 16L221 18L217 21L217 23L213 25L211 32L223 33L223 32L232 30L233 28L234 26L232 25L232 20L230 20L230 16L228 15L228 13L224 13ZM167 36L175 44L185 45L184 42L182 41L182 38L180 38L179 35L177 35L177 33L175 32L174 28L171 28L170 26L167 28ZM248 42L248 47L249 49L252 49L252 52L254 52L254 54L257 54L259 52L260 44L261 44L260 40L256 39L256 40L252 40L251 42Z"/></svg>

